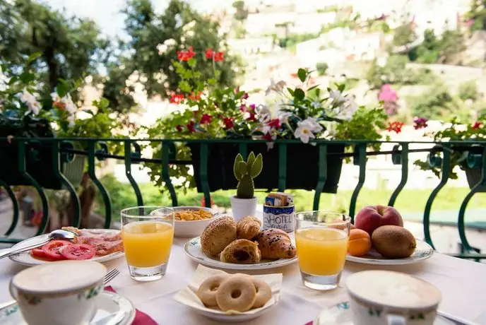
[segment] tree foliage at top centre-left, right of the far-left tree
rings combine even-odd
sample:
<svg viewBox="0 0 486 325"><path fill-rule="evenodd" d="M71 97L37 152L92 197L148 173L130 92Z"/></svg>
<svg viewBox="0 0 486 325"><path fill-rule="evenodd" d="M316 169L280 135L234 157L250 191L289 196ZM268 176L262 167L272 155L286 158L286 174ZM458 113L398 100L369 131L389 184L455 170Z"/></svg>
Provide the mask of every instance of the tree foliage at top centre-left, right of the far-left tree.
<svg viewBox="0 0 486 325"><path fill-rule="evenodd" d="M227 52L225 35L218 35L219 23L201 16L184 1L171 0L165 11L158 14L150 0L129 0L123 12L129 40L119 41L120 54L109 59L104 90L105 98L121 111L134 105L134 85L125 83L130 76L134 83L143 85L149 98L154 95L166 98L177 90L180 81L172 66L177 52L193 47L196 57L205 61L208 48ZM225 53L218 66L220 85L233 85L236 64L237 59ZM209 78L213 66L207 62L198 65L198 71Z"/></svg>

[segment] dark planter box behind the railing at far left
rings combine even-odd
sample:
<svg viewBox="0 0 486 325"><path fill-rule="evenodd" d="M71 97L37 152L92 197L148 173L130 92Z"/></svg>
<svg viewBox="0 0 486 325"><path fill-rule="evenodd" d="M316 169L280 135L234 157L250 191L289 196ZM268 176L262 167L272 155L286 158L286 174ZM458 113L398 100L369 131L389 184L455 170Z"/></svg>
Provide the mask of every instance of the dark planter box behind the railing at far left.
<svg viewBox="0 0 486 325"><path fill-rule="evenodd" d="M54 138L45 119L25 117L14 119L1 117L0 137L8 136L23 138ZM28 142L25 144L25 166L41 187L47 189L61 189L61 181L52 170L52 143ZM0 143L0 179L8 185L32 185L28 179L18 171L18 145L14 141L1 141Z"/></svg>

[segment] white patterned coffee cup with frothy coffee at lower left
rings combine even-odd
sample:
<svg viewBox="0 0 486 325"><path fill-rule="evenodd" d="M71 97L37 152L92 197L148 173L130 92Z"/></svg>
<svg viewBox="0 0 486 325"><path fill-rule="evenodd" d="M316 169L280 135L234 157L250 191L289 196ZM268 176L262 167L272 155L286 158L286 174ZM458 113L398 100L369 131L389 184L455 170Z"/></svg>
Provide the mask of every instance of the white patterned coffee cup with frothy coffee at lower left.
<svg viewBox="0 0 486 325"><path fill-rule="evenodd" d="M87 325L106 272L93 261L49 262L17 273L10 293L29 325Z"/></svg>

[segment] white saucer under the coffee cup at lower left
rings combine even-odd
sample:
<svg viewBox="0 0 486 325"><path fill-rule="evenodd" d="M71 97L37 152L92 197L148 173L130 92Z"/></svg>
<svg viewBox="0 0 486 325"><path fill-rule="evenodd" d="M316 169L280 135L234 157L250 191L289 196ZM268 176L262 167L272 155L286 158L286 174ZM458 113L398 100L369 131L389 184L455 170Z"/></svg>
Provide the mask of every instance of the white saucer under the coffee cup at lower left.
<svg viewBox="0 0 486 325"><path fill-rule="evenodd" d="M104 291L98 299L97 311L92 323L115 312L125 312L125 317L117 325L130 325L135 319L135 308L125 297ZM0 310L0 325L27 325L17 305Z"/></svg>

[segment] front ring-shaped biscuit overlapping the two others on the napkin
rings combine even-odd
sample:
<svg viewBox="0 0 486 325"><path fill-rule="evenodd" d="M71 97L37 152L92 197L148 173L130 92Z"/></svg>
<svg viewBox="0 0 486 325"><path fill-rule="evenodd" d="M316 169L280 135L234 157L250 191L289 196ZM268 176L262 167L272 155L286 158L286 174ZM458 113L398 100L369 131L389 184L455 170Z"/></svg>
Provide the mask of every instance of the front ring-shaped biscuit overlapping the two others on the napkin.
<svg viewBox="0 0 486 325"><path fill-rule="evenodd" d="M216 302L223 312L247 312L256 300L255 285L244 276L232 276L221 283L216 291Z"/></svg>

